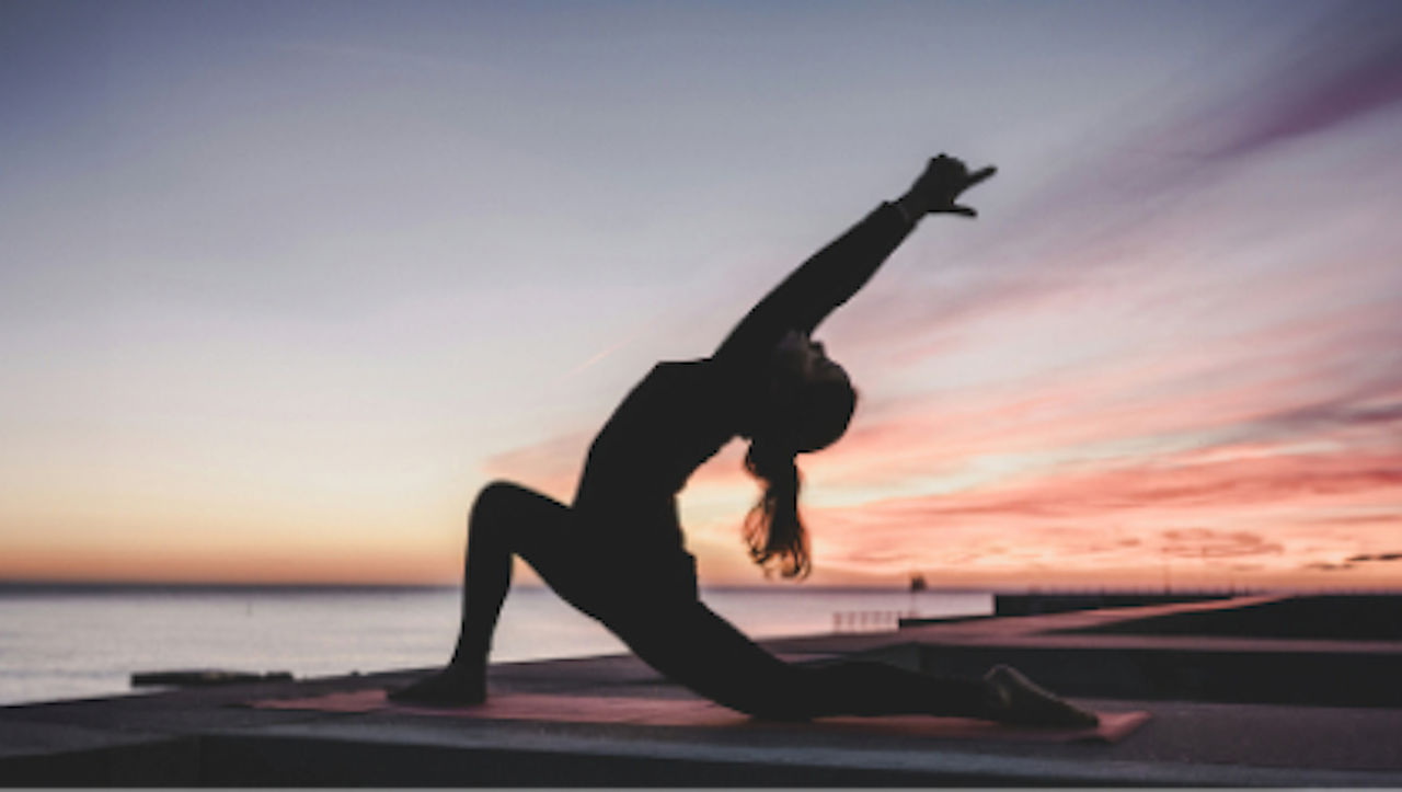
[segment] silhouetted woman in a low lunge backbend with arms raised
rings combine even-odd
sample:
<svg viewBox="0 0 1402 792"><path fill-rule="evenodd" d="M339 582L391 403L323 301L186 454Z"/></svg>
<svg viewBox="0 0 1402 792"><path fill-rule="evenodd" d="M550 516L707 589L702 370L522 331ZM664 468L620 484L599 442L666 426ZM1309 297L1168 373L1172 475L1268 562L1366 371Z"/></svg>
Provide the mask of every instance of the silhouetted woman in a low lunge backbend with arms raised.
<svg viewBox="0 0 1402 792"><path fill-rule="evenodd" d="M670 680L760 718L931 714L1025 723L1094 723L1007 666L948 680L869 662L794 666L707 608L684 549L676 495L722 446L750 442L744 467L764 493L746 520L750 555L785 576L809 569L795 457L847 430L857 394L812 341L931 213L974 216L959 195L991 177L956 158L930 161L880 205L765 296L711 357L659 363L589 449L565 506L515 484L486 486L468 519L463 625L446 669L393 698L470 704L486 697L486 656L519 555L569 604L603 622Z"/></svg>

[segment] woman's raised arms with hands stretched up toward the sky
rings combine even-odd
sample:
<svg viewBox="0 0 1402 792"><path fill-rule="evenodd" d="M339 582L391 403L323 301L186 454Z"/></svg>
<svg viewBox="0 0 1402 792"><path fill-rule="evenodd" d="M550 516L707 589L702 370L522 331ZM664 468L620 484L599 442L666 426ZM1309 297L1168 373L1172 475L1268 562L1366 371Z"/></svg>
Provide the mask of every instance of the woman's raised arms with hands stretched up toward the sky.
<svg viewBox="0 0 1402 792"><path fill-rule="evenodd" d="M712 356L729 364L760 369L788 331L810 335L880 268L890 254L930 213L974 217L955 203L959 195L995 172L987 167L969 172L965 164L944 154L930 160L916 184L803 262L758 301Z"/></svg>

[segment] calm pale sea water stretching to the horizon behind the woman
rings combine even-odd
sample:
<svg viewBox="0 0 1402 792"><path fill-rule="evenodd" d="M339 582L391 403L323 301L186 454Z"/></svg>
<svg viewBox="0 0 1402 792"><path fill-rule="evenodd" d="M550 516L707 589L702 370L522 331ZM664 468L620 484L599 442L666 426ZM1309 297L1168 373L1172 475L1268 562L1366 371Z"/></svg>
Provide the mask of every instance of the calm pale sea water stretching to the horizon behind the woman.
<svg viewBox="0 0 1402 792"><path fill-rule="evenodd" d="M719 589L707 604L760 638L893 627L890 614L986 614L993 594ZM854 615L864 614L864 615ZM880 614L879 617L876 614ZM456 589L0 589L0 705L132 692L135 671L216 667L297 677L443 663ZM625 652L543 589L513 589L494 660Z"/></svg>

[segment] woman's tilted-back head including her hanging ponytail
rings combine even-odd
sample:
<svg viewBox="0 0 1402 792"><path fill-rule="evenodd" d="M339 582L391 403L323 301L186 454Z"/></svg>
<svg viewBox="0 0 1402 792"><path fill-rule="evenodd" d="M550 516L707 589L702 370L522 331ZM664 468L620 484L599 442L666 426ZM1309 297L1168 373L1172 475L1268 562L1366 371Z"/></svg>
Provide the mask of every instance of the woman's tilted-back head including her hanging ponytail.
<svg viewBox="0 0 1402 792"><path fill-rule="evenodd" d="M756 564L777 561L785 578L808 575L808 534L798 513L802 478L794 457L833 444L855 407L847 371L827 357L823 345L788 334L774 352L768 392L744 457L744 468L764 484L744 520Z"/></svg>

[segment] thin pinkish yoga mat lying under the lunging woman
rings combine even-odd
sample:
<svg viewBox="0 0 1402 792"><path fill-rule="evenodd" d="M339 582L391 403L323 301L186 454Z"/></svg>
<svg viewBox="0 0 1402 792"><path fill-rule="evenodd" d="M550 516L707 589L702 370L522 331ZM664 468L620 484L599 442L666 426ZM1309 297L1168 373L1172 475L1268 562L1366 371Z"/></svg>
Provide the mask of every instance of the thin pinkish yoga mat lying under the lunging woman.
<svg viewBox="0 0 1402 792"><path fill-rule="evenodd" d="M701 699L625 698L597 695L498 694L472 706L409 706L386 698L383 690L332 692L310 698L248 702L259 709L317 712L400 712L486 721L555 721L564 723L635 723L644 726L795 728L879 732L886 735L974 740L1042 740L1054 743L1116 743L1148 721L1148 712L1099 712L1099 726L1011 726L974 718L886 715L878 718L819 718L808 722L753 721Z"/></svg>

